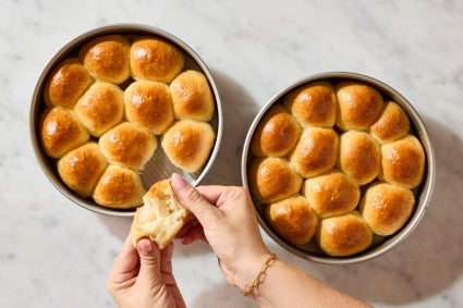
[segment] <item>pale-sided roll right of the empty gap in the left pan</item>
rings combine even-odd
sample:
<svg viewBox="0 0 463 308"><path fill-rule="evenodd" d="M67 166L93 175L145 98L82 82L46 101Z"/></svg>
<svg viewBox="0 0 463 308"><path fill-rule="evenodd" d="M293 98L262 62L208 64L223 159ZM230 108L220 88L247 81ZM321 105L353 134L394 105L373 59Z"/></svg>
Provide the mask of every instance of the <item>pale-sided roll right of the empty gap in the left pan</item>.
<svg viewBox="0 0 463 308"><path fill-rule="evenodd" d="M199 171L214 147L216 134L206 122L182 120L162 136L161 146L170 161L183 171Z"/></svg>

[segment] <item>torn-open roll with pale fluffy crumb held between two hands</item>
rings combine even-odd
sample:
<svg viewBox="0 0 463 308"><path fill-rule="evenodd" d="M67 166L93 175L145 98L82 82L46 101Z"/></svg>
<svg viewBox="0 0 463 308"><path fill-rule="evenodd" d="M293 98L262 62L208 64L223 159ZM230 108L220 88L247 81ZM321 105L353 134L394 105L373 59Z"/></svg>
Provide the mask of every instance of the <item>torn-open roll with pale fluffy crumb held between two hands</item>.
<svg viewBox="0 0 463 308"><path fill-rule="evenodd" d="M178 201L170 182L155 183L143 196L143 206L136 209L132 223L134 247L141 238L149 237L162 250L185 224L190 211Z"/></svg>

